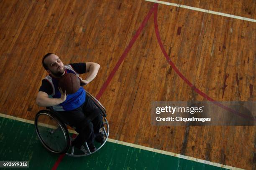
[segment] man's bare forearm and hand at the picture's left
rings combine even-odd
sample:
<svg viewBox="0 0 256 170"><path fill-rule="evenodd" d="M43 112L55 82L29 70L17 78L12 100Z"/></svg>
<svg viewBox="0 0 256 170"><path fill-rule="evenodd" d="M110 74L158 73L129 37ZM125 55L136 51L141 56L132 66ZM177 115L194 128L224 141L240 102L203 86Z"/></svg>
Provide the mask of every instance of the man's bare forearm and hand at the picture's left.
<svg viewBox="0 0 256 170"><path fill-rule="evenodd" d="M61 92L60 98L49 98L49 95L46 92L39 91L36 97L36 104L42 107L50 107L61 104L66 100L67 95L66 91L63 92L61 89L59 89L59 91Z"/></svg>

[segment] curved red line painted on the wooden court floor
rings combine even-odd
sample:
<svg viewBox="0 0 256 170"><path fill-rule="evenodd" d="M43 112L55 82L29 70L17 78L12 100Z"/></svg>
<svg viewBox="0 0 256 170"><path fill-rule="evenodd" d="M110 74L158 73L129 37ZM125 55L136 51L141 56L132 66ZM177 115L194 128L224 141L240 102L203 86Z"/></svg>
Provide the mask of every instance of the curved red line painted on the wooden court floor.
<svg viewBox="0 0 256 170"><path fill-rule="evenodd" d="M156 38L157 38L157 41L161 47L161 50L162 52L164 53L164 56L166 58L166 60L169 62L169 64L171 65L171 67L173 68L173 70L179 75L179 77L182 78L182 80L184 80L184 82L187 83L187 85L189 85L193 90L195 90L195 92L197 92L198 94L200 94L202 97L205 97L207 100L213 102L215 105L218 105L219 107L222 107L223 109L225 110L228 110L230 112L233 112L237 115L240 115L241 117L248 117L249 119L251 120L254 120L254 117L251 117L251 116L248 116L248 115L244 115L236 110L233 110L225 105L222 105L220 102L217 102L216 100L212 99L211 97L209 97L207 94L205 94L204 92L202 92L201 90L199 90L197 87L195 87L180 71L179 69L174 65L174 63L172 62L172 60L170 59L170 57L168 56L166 50L164 49L164 45L161 41L161 37L160 37L160 34L159 34L159 29L158 29L158 24L157 24L157 12L158 12L158 4L155 3L154 4L155 6L155 10L154 10L154 27L155 27L155 33L156 33Z"/></svg>

